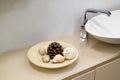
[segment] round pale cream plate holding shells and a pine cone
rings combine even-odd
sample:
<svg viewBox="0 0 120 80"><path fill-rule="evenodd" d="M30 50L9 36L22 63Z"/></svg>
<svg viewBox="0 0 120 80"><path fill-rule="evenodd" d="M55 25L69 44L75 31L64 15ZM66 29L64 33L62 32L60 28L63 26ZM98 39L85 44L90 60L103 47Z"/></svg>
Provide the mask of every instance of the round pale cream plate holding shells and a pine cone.
<svg viewBox="0 0 120 80"><path fill-rule="evenodd" d="M47 48L49 46L49 44L52 42L58 42L63 47L73 48L75 50L75 54L76 54L75 57L71 60L65 60L63 63L51 63L51 62L44 63L41 60L41 55L39 54L39 49L43 48L43 47ZM77 60L78 56L79 56L79 52L73 45L66 43L66 42L61 42L61 41L46 41L46 42L38 43L38 44L32 46L28 50L28 53L27 53L27 57L31 63L35 64L36 66L43 67L43 68L49 68L49 69L56 69L56 68L68 66L68 65L72 64L73 62L75 62Z"/></svg>

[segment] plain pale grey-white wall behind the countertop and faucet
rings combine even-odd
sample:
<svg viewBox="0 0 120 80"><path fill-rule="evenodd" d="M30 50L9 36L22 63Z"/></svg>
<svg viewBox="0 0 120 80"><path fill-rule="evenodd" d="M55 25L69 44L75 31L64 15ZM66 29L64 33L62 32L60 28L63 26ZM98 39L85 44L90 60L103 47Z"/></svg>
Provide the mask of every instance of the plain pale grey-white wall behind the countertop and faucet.
<svg viewBox="0 0 120 80"><path fill-rule="evenodd" d="M116 10L120 0L0 0L0 53L79 31L87 8Z"/></svg>

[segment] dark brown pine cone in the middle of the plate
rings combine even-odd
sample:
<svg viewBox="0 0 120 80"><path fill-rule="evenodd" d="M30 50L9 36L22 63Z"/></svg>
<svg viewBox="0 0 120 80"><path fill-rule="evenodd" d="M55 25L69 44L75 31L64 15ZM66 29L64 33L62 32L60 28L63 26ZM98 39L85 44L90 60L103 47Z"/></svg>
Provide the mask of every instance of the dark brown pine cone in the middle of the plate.
<svg viewBox="0 0 120 80"><path fill-rule="evenodd" d="M47 54L50 56L50 59L53 59L55 55L60 54L63 56L63 47L58 42L52 42L47 48Z"/></svg>

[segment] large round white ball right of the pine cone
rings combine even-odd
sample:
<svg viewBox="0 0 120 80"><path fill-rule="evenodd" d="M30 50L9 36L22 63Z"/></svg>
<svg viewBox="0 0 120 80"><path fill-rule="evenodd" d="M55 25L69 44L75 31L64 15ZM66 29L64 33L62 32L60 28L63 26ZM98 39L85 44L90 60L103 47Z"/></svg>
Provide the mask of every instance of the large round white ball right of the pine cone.
<svg viewBox="0 0 120 80"><path fill-rule="evenodd" d="M67 47L63 51L65 59L73 59L75 57L75 51L73 48Z"/></svg>

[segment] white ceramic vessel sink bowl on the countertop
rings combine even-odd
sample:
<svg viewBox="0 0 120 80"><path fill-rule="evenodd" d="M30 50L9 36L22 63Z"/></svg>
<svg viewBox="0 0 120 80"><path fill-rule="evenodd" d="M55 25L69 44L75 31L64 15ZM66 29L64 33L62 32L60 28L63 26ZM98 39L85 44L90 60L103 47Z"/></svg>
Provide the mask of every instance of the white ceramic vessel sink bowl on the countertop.
<svg viewBox="0 0 120 80"><path fill-rule="evenodd" d="M96 39L120 44L120 10L112 11L111 16L100 14L88 20L86 31Z"/></svg>

